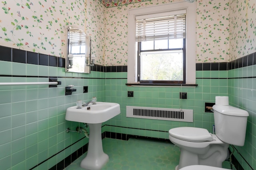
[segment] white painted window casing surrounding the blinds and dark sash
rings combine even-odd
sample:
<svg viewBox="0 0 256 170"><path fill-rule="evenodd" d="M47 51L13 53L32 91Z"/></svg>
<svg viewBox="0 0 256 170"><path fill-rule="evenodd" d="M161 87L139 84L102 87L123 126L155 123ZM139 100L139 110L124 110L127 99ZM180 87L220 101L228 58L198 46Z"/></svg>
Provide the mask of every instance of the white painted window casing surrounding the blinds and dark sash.
<svg viewBox="0 0 256 170"><path fill-rule="evenodd" d="M128 10L127 83L138 84L135 17L140 15L186 10L186 84L196 84L196 3L177 2Z"/></svg>

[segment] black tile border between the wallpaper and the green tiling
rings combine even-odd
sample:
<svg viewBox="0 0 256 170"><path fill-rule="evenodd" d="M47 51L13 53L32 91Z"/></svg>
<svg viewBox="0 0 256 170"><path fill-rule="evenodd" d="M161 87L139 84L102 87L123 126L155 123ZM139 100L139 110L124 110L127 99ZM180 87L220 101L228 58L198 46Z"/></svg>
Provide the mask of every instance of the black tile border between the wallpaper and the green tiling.
<svg viewBox="0 0 256 170"><path fill-rule="evenodd" d="M18 52L20 52L17 56ZM0 45L0 61L12 61L18 63L38 64L45 66L56 66L65 68L66 59L63 57L55 57L51 55L45 55L40 53L34 53L31 51L24 51L20 49L14 49L10 47L4 47ZM24 56L26 55L26 56ZM256 64L256 52L240 57L230 62L221 63L196 63L196 71L213 71L213 70L232 70L235 68L241 68ZM100 64L94 64L91 67L91 71L98 72L127 72L127 66L102 66Z"/></svg>

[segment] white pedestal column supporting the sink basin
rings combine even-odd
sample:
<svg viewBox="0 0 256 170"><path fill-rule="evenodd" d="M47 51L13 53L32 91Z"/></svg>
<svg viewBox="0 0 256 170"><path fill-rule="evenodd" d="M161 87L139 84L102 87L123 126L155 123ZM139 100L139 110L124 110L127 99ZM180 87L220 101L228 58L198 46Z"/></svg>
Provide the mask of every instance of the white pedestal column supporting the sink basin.
<svg viewBox="0 0 256 170"><path fill-rule="evenodd" d="M101 139L102 123L87 123L90 127L89 145L86 157L80 166L86 170L100 170L109 160L103 152Z"/></svg>

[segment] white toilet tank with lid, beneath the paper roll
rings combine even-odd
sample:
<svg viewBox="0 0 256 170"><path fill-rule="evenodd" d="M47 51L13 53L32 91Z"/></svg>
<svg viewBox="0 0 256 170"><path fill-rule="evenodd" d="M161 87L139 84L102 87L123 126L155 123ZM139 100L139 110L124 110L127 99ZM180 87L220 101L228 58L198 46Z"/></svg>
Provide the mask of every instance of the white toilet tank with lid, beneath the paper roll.
<svg viewBox="0 0 256 170"><path fill-rule="evenodd" d="M233 106L214 105L212 108L217 137L225 143L244 146L249 113Z"/></svg>

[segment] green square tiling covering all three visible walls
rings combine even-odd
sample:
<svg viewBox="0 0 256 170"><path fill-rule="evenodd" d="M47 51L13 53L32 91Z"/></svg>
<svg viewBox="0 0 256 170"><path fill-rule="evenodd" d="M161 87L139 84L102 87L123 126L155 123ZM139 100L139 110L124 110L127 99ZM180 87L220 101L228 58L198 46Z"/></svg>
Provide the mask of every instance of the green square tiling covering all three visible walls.
<svg viewBox="0 0 256 170"><path fill-rule="evenodd" d="M6 67L4 75L14 75L12 68L15 64L0 61L0 66L6 65L10 67ZM246 144L237 149L252 167L256 166L256 117L253 108L256 104L256 82L252 78L256 75L255 66L229 71L196 71L198 86L195 88L130 87L125 85L126 72L92 71L91 74L80 74L66 73L64 68L51 66L21 66L26 70L25 73L20 72L21 75L58 76L62 84L57 88L48 88L48 85L0 86L0 136L4 136L0 139L0 164L4 165L4 169L30 169L37 164L40 165L35 169L48 169L88 143L88 139L83 139L74 144L83 135L65 132L67 127L75 129L78 126L78 123L65 121L65 111L67 107L74 106L76 100L86 102L93 96L98 101L119 103L121 107L121 114L105 122L102 132L168 139L168 130L173 127L202 127L212 132L213 114L204 112L204 103L214 103L215 96L228 95L230 104L250 113ZM37 81L45 82L48 78L0 77L0 82ZM65 86L70 84L76 86L77 92L65 96ZM82 93L83 86L88 86L88 93ZM134 91L134 97L127 97L127 91ZM187 92L188 99L179 99L179 92ZM127 118L126 106L193 109L194 122ZM237 153L235 156L245 169L250 169L242 156Z"/></svg>

